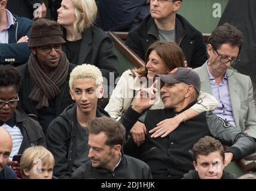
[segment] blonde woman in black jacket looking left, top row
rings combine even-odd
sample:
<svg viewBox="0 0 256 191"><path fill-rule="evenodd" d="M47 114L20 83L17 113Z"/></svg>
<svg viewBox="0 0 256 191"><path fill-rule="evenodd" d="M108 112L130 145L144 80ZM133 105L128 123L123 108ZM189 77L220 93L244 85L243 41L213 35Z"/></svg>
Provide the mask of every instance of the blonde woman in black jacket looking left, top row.
<svg viewBox="0 0 256 191"><path fill-rule="evenodd" d="M109 81L109 72L118 76L118 60L108 35L93 22L97 15L95 0L62 0L57 23L64 28L63 51L74 64L95 64Z"/></svg>

